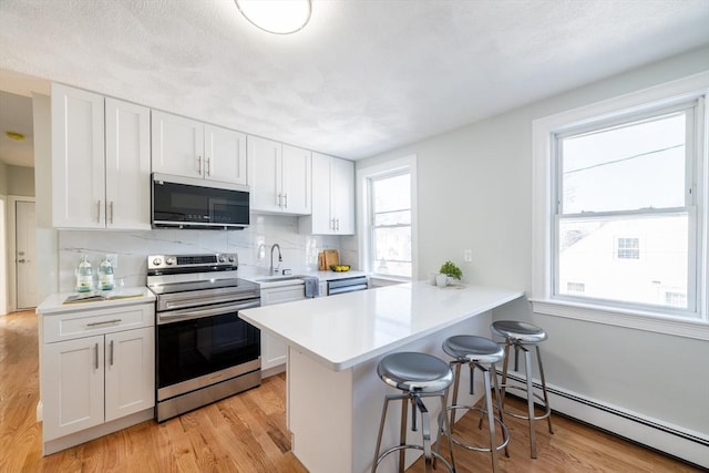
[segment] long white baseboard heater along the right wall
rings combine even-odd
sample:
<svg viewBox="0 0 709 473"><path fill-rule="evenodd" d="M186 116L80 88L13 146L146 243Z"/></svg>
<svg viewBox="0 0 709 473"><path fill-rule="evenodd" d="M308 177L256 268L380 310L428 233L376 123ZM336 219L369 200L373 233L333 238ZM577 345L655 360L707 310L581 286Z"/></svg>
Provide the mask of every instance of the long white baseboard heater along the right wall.
<svg viewBox="0 0 709 473"><path fill-rule="evenodd" d="M510 384L522 385L524 378L510 372ZM534 380L535 388L540 388ZM540 388L541 389L541 388ZM689 463L709 469L709 435L648 418L606 402L547 384L552 410L658 450Z"/></svg>

